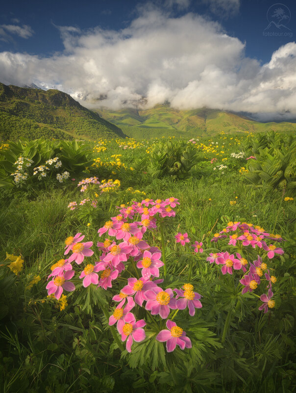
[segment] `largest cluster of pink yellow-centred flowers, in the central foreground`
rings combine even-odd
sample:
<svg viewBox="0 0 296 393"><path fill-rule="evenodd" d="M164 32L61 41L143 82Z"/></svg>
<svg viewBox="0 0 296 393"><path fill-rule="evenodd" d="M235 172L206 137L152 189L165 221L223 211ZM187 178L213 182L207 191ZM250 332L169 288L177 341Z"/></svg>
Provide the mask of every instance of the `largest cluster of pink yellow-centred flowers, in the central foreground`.
<svg viewBox="0 0 296 393"><path fill-rule="evenodd" d="M143 308L146 313L167 319L167 329L161 330L156 340L166 341L168 352L172 352L176 345L181 349L192 347L183 329L173 322L172 314L188 307L189 314L193 316L195 310L202 307L199 300L201 296L194 292L191 284L184 284L179 289L161 288L159 284L163 280L159 279L159 269L164 266L161 261L162 253L158 247L150 246L143 238L147 231L157 228L158 219L175 216L173 208L177 205L178 200L172 197L155 201L147 198L139 203L132 202L128 207L118 207L120 214L111 217L98 230L100 237L105 236L104 240L97 243L101 253L99 261L85 264L78 273L84 288L93 284L107 290L123 275L128 265L126 271L132 276L127 279L127 284L120 292L113 296L113 301L118 305L109 317L109 325L116 324L122 341L126 341L128 352L131 352L133 341L140 342L146 338L144 327L149 326L150 322L144 319L136 320L137 311ZM82 242L83 239L81 233L66 239L64 254L67 255L70 251L72 254L68 259L60 260L51 266L49 278L52 280L47 285L49 295L54 294L54 297L59 299L63 289L75 289L74 284L69 281L74 276L72 262L80 265L85 257L94 254L91 250L93 242ZM194 246L200 249L202 243L196 243ZM155 325L155 322L153 324Z"/></svg>

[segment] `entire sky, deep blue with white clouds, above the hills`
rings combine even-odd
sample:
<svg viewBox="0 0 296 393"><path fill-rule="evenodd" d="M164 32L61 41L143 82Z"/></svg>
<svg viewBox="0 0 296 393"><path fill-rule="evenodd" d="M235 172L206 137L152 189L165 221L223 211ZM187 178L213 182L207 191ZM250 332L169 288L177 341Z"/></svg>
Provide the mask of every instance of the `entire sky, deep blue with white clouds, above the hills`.
<svg viewBox="0 0 296 393"><path fill-rule="evenodd" d="M55 87L90 108L169 100L284 120L296 118L295 35L292 0L12 0L1 6L0 81Z"/></svg>

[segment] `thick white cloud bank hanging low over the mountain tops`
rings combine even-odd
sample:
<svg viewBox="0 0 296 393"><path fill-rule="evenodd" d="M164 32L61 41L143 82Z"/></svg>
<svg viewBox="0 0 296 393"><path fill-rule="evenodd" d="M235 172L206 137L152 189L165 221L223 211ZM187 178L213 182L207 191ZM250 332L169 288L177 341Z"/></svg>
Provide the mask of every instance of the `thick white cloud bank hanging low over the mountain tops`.
<svg viewBox="0 0 296 393"><path fill-rule="evenodd" d="M90 108L169 101L179 109L209 106L261 120L296 118L295 42L262 65L219 23L155 7L140 12L120 31L60 26L65 50L49 57L1 52L0 81L55 86Z"/></svg>

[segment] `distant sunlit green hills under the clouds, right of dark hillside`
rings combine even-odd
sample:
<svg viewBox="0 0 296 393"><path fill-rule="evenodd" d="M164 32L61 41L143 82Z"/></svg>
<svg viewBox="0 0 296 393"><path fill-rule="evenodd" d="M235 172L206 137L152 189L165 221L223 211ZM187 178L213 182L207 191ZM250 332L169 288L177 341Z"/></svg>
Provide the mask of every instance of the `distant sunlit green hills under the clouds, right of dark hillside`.
<svg viewBox="0 0 296 393"><path fill-rule="evenodd" d="M121 127L129 136L147 137L157 136L156 131L162 135L201 136L215 135L221 131L268 131L276 132L296 131L296 124L260 123L235 113L199 108L179 110L169 104L155 105L151 109L121 109L118 111L105 108L96 109L102 118Z"/></svg>

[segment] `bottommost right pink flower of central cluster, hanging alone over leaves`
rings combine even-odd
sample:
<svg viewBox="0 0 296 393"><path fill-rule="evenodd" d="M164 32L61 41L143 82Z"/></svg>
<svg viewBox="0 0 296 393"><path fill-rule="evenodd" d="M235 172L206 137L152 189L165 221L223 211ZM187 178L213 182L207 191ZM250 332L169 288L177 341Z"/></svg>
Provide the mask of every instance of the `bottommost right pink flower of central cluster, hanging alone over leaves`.
<svg viewBox="0 0 296 393"><path fill-rule="evenodd" d="M167 320L167 329L161 330L156 336L156 340L160 342L167 341L167 351L173 352L176 345L183 350L186 348L192 348L192 343L189 337L186 337L186 333L183 329L175 324L170 319Z"/></svg>

